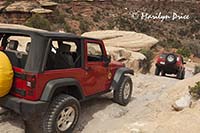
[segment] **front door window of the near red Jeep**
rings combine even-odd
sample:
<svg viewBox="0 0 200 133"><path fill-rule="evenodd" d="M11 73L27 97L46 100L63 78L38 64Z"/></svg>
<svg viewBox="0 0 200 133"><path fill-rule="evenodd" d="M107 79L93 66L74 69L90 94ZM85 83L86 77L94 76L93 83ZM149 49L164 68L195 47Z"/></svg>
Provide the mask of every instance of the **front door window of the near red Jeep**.
<svg viewBox="0 0 200 133"><path fill-rule="evenodd" d="M87 43L88 49L88 61L89 62L98 62L103 61L103 51L101 45L97 43Z"/></svg>

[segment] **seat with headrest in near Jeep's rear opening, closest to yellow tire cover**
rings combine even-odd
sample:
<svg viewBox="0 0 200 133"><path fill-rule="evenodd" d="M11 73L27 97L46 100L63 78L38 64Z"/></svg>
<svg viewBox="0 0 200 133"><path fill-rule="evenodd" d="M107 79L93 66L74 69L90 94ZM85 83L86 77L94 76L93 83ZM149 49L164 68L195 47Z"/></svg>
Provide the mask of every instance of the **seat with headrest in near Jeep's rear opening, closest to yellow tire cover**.
<svg viewBox="0 0 200 133"><path fill-rule="evenodd" d="M10 62L13 66L19 67L20 63L19 63L19 59L17 57L18 55L18 48L19 42L16 40L10 40L10 42L8 43L8 48L5 50L6 55L8 56L8 58L10 59Z"/></svg>

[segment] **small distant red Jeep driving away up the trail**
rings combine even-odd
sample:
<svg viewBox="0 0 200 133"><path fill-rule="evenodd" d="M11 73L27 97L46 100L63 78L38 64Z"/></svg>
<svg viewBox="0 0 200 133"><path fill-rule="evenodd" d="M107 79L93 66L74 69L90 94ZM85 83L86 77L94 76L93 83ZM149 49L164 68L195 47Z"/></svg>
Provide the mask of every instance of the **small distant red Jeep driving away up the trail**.
<svg viewBox="0 0 200 133"><path fill-rule="evenodd" d="M176 74L178 79L185 77L183 57L173 53L162 53L157 58L155 75Z"/></svg>

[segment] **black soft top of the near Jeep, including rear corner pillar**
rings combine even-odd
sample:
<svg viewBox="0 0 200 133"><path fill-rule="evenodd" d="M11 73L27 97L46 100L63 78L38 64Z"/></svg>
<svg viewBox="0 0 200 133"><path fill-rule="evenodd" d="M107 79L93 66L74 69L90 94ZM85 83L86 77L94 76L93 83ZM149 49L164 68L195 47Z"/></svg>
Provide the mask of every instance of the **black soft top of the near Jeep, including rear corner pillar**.
<svg viewBox="0 0 200 133"><path fill-rule="evenodd" d="M40 73L45 69L45 61L49 51L49 40L51 38L75 39L80 41L80 44L82 44L82 39L98 40L77 36L71 33L50 32L14 24L0 24L0 34L16 34L31 37L31 50L29 51L24 69L26 72L33 73Z"/></svg>

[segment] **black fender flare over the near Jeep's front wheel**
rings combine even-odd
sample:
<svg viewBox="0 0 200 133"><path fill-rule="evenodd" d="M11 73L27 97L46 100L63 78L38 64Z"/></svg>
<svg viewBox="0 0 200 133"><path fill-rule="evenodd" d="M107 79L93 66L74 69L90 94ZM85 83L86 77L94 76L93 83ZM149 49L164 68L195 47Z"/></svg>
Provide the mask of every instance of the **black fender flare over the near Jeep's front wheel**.
<svg viewBox="0 0 200 133"><path fill-rule="evenodd" d="M134 71L132 69L126 68L126 67L121 67L121 68L117 69L117 71L115 72L113 81L111 83L110 90L115 90L120 87L120 84L122 83L122 80L123 80L123 76L125 74L134 75Z"/></svg>

